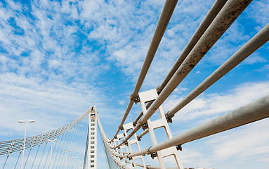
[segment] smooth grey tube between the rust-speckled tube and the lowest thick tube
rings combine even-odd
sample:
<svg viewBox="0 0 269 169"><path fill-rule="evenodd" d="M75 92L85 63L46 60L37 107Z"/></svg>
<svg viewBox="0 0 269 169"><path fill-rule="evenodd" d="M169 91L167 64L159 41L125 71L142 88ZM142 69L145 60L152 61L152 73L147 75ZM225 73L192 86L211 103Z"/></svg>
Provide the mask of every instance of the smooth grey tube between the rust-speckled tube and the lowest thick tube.
<svg viewBox="0 0 269 169"><path fill-rule="evenodd" d="M247 44L244 44L234 55L232 55L223 65L214 71L209 77L204 80L198 87L196 87L188 96L186 96L181 102L166 113L166 117L172 118L181 108L186 106L190 101L195 99L199 94L209 88L214 82L219 80L223 75L228 73L232 68L235 68L239 63L244 61L245 58L250 56L254 51L263 46L269 40L269 24L263 27L254 37L252 37Z"/></svg>

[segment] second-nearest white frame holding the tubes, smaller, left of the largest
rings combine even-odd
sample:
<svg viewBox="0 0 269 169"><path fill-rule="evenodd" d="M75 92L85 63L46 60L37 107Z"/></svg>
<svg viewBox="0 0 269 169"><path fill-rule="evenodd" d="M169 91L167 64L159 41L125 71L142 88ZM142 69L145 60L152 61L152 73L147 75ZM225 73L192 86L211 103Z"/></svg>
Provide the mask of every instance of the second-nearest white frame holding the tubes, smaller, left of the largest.
<svg viewBox="0 0 269 169"><path fill-rule="evenodd" d="M124 127L124 133L125 133L125 135L128 135L127 132L129 132L129 130L133 130L133 123L127 123L127 124L123 125L123 127ZM129 146L129 149L130 149L130 152L131 153L133 153L133 149L131 148L131 145L135 146L138 149L138 151L141 151L140 145L138 143L138 139L136 137L136 133L133 134L133 139L127 140L127 144ZM143 165L143 168L146 168L145 167L145 161L143 159L143 156L134 156L132 158L132 160L133 160L133 167L137 169L136 160L138 160L138 159L141 160L141 163L139 163L139 164L142 164Z"/></svg>

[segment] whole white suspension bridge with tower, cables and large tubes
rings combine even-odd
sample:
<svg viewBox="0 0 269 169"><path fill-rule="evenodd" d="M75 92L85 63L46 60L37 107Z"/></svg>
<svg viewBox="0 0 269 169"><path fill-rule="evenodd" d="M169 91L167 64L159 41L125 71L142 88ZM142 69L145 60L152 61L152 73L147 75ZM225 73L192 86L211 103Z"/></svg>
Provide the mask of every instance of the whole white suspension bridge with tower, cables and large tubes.
<svg viewBox="0 0 269 169"><path fill-rule="evenodd" d="M178 154L178 151L183 149L183 144L268 118L269 95L265 94L261 99L176 136L172 136L169 128L169 125L173 125L173 116L176 113L181 113L181 109L190 101L268 42L269 25L263 27L246 44L242 44L242 47L235 54L230 56L225 63L214 73L211 73L176 106L166 112L162 108L162 104L169 95L181 84L188 73L250 3L250 0L216 0L162 84L159 84L157 88L152 87L149 91L141 92L140 87L177 4L175 0L166 0L136 86L129 97L129 104L114 137L107 136L98 116L98 108L91 106L72 123L51 132L0 142L0 156L1 160L4 160L2 168L98 168L97 154L100 150L97 149L97 144L103 144L109 168L183 169L184 164ZM140 104L141 111L136 119L126 123L126 118L133 104ZM27 123L31 122L34 121L21 121L26 126ZM164 142L157 142L159 134L157 129L160 128L164 130L166 135ZM101 136L99 142L98 132ZM143 138L146 134L150 134L152 144L147 149L141 149L140 145L143 144ZM157 159L159 165L148 165L145 156ZM173 158L174 166L168 167L164 162L166 157Z"/></svg>

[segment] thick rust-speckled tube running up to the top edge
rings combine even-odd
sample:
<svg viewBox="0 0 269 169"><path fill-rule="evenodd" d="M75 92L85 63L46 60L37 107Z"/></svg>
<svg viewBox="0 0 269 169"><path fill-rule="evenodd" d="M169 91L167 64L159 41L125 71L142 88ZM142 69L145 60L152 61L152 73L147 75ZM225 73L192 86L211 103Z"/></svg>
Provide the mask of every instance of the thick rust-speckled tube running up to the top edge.
<svg viewBox="0 0 269 169"><path fill-rule="evenodd" d="M236 18L244 11L245 8L251 3L252 0L228 0L213 20L211 25L207 28L204 35L202 35L199 42L192 49L188 57L183 61L182 65L178 68L176 73L169 80L166 87L157 99L153 102L152 106L147 109L147 113L138 121L138 125L126 136L126 138L117 146L121 146L126 142L140 127L147 122L153 113L162 105L167 97L173 92L174 89L181 83L181 81L190 73L192 68L202 59L209 49L216 43L216 41L223 35L225 30L232 25Z"/></svg>

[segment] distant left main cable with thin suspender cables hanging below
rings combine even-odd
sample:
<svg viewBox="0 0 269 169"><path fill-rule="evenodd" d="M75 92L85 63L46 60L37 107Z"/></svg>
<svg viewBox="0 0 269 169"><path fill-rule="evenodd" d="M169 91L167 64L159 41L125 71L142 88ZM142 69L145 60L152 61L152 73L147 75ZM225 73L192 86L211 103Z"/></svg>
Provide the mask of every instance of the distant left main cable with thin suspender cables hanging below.
<svg viewBox="0 0 269 169"><path fill-rule="evenodd" d="M72 159L72 161L66 161L63 151L68 150L69 152L67 157L71 158L72 156L79 155L79 149L84 149L84 147L81 147L81 143L84 145L86 143L85 136L88 128L88 119L86 118L87 115L88 111L83 113L72 123L69 123L56 130L39 134L34 137L27 137L25 140L25 153L27 154L23 168L41 169L48 168L48 166L51 164L51 166L53 166L52 168L60 169L63 168L65 164L73 165L72 163L74 162L74 159ZM53 147L51 147L52 140L54 141ZM0 142L1 155L6 155L6 159L2 167L3 169L15 169L19 167L18 163L20 158L22 158L21 154L23 151L23 144L24 139L14 139ZM50 160L50 155L52 160ZM15 158L15 156L17 157Z"/></svg>

